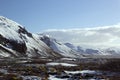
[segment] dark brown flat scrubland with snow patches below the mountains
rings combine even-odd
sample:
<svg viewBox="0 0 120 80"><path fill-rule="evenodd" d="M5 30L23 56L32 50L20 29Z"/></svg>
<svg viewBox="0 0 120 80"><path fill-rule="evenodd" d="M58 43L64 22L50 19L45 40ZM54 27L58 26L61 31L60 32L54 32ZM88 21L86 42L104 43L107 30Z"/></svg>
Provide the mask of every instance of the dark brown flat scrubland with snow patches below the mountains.
<svg viewBox="0 0 120 80"><path fill-rule="evenodd" d="M120 80L120 59L0 59L0 80Z"/></svg>

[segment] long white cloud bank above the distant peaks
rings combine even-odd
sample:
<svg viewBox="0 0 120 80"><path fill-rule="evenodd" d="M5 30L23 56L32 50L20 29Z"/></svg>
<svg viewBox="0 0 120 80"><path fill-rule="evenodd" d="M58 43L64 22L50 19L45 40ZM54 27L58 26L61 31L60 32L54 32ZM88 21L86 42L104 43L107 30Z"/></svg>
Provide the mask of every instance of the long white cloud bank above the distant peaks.
<svg viewBox="0 0 120 80"><path fill-rule="evenodd" d="M95 28L51 29L44 32L57 40L83 47L120 47L120 24Z"/></svg>

